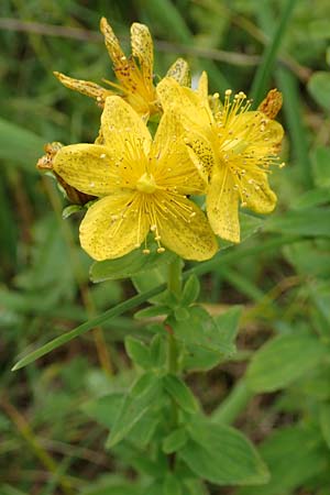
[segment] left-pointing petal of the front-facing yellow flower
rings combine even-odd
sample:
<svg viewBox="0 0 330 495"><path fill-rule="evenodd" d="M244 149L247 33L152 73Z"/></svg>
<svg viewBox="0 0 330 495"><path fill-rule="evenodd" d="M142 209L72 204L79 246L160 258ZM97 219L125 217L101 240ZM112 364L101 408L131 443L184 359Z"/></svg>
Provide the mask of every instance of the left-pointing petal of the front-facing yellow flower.
<svg viewBox="0 0 330 495"><path fill-rule="evenodd" d="M54 170L67 184L87 195L105 196L118 188L117 168L107 146L64 146L54 158Z"/></svg>

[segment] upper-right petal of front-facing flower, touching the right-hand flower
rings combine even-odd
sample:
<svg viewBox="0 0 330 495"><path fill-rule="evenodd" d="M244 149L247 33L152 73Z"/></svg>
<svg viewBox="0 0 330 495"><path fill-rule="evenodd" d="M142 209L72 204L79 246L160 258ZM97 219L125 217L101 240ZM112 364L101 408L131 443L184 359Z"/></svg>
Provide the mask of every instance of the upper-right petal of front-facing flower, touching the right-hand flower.
<svg viewBox="0 0 330 495"><path fill-rule="evenodd" d="M207 184L189 156L183 132L176 111L167 110L160 121L152 146L151 173L166 189L176 187L182 195L202 194Z"/></svg>

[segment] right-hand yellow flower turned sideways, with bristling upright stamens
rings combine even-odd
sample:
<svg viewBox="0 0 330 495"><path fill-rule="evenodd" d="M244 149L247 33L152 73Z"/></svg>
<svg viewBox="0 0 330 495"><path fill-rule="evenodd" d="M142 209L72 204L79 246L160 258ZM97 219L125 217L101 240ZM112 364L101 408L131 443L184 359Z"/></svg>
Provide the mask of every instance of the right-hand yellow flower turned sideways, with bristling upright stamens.
<svg viewBox="0 0 330 495"><path fill-rule="evenodd" d="M240 242L239 205L257 213L270 213L276 205L267 176L271 165L282 165L276 156L282 125L263 111L251 111L242 91L232 96L227 90L223 103L218 94L209 97L206 73L197 91L170 78L157 91L164 109L176 108L180 114L190 157L209 184L207 213L213 232Z"/></svg>

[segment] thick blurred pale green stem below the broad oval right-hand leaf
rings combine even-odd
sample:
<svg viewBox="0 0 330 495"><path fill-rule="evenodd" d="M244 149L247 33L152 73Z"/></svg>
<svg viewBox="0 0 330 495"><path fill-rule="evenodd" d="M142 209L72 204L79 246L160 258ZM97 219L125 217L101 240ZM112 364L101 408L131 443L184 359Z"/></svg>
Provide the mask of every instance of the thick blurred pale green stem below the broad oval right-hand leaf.
<svg viewBox="0 0 330 495"><path fill-rule="evenodd" d="M240 380L228 397L212 413L212 421L231 425L252 397L253 393L248 388L244 380Z"/></svg>

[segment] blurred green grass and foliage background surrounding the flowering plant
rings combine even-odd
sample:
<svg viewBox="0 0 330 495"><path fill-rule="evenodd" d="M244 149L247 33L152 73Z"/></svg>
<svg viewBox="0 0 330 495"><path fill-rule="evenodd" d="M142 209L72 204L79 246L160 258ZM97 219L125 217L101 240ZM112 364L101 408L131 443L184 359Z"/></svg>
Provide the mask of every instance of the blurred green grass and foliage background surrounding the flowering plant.
<svg viewBox="0 0 330 495"><path fill-rule="evenodd" d="M135 373L123 341L144 336L143 315L117 317L26 369L10 371L22 351L134 294L130 283L88 282L90 260L77 245L78 219L62 220L62 195L34 166L45 142L95 139L99 109L62 87L52 70L95 81L111 77L98 34L101 15L125 46L131 22L150 26L156 74L183 55L194 75L209 72L213 91L231 87L257 96L260 88L277 86L284 94L288 166L272 176L276 213L255 235L223 252L201 279L199 300L215 315L242 305L238 352L211 373L191 370L187 380L217 428L234 422L258 446L272 473L260 487L219 491L210 483L210 494L330 493L330 4L317 0L311 9L307 0L296 2L288 29L279 33L276 59L256 81L260 57L286 4L1 2L1 495L124 495L135 476L123 462L132 447L121 447L114 460L105 449L111 415L92 405L131 385ZM142 283L148 287L147 275ZM125 346L134 358L132 342ZM190 451L183 454L187 462ZM147 476L147 466L135 469ZM168 480L167 495L175 490Z"/></svg>

